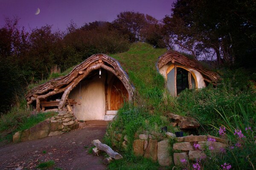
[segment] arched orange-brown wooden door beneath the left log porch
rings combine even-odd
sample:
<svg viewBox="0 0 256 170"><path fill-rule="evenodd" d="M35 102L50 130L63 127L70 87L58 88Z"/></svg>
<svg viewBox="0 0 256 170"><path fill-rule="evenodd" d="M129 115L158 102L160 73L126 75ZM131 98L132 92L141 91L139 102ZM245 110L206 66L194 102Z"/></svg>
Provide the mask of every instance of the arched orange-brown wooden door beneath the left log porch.
<svg viewBox="0 0 256 170"><path fill-rule="evenodd" d="M111 110L117 111L128 100L128 91L122 82L115 77L111 87Z"/></svg>

